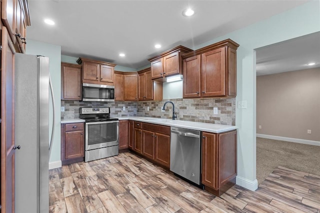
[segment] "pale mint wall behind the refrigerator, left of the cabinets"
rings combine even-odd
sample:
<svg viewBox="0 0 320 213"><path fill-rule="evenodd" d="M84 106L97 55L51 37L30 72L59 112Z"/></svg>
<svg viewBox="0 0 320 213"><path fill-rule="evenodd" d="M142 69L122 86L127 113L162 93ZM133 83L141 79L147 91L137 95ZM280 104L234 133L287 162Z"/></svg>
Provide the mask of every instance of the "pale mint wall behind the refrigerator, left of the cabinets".
<svg viewBox="0 0 320 213"><path fill-rule="evenodd" d="M51 144L51 155L49 163L60 161L60 105L61 105L61 46L43 43L35 40L28 39L26 45L26 54L39 54L49 57L49 72L52 81L55 102L55 121L54 121L54 134ZM50 100L51 101L51 100ZM51 103L51 102L50 102ZM50 122L52 121L52 106L49 107ZM50 129L52 124L50 124ZM51 138L51 132L50 132Z"/></svg>

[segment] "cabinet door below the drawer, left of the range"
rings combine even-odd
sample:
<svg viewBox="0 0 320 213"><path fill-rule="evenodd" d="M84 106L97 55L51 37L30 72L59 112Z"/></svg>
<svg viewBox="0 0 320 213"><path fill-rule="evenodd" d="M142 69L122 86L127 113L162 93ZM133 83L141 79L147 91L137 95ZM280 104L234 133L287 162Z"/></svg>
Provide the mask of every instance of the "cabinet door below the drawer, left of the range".
<svg viewBox="0 0 320 213"><path fill-rule="evenodd" d="M64 158L84 156L83 131L65 132Z"/></svg>

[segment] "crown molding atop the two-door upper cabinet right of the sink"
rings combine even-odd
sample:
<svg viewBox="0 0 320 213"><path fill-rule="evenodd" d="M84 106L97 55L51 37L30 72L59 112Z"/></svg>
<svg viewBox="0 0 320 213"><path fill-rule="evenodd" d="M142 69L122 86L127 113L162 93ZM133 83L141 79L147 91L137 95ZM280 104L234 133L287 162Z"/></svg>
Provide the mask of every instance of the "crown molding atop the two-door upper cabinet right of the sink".
<svg viewBox="0 0 320 213"><path fill-rule="evenodd" d="M181 55L181 57L182 57L182 59L185 59L185 58L188 58L188 57L191 57L191 56L195 56L195 55L198 55L198 54L202 54L204 52L207 52L207 51L210 51L210 50L213 50L213 49L217 49L217 48L220 48L220 47L223 47L223 46L228 46L228 47L236 50L237 47L239 46L239 44L234 42L230 38L228 38L228 39L225 39L225 40L210 44L208 46L204 46L202 48L199 48L199 49L184 53L184 54Z"/></svg>

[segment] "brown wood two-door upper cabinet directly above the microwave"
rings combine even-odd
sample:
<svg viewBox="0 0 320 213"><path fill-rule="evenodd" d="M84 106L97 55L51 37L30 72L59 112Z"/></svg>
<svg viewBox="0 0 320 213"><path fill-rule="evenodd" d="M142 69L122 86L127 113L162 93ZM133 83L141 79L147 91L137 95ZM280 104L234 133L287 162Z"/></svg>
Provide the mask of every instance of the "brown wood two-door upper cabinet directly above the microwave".
<svg viewBox="0 0 320 213"><path fill-rule="evenodd" d="M114 63L79 57L82 64L82 83L114 85Z"/></svg>

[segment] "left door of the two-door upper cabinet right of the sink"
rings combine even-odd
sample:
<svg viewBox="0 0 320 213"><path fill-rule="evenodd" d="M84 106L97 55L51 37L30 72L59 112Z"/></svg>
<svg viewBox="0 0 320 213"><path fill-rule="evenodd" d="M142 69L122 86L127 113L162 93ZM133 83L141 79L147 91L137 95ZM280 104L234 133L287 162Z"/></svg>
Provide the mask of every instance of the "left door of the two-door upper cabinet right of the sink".
<svg viewBox="0 0 320 213"><path fill-rule="evenodd" d="M201 55L183 59L183 97L200 97Z"/></svg>

